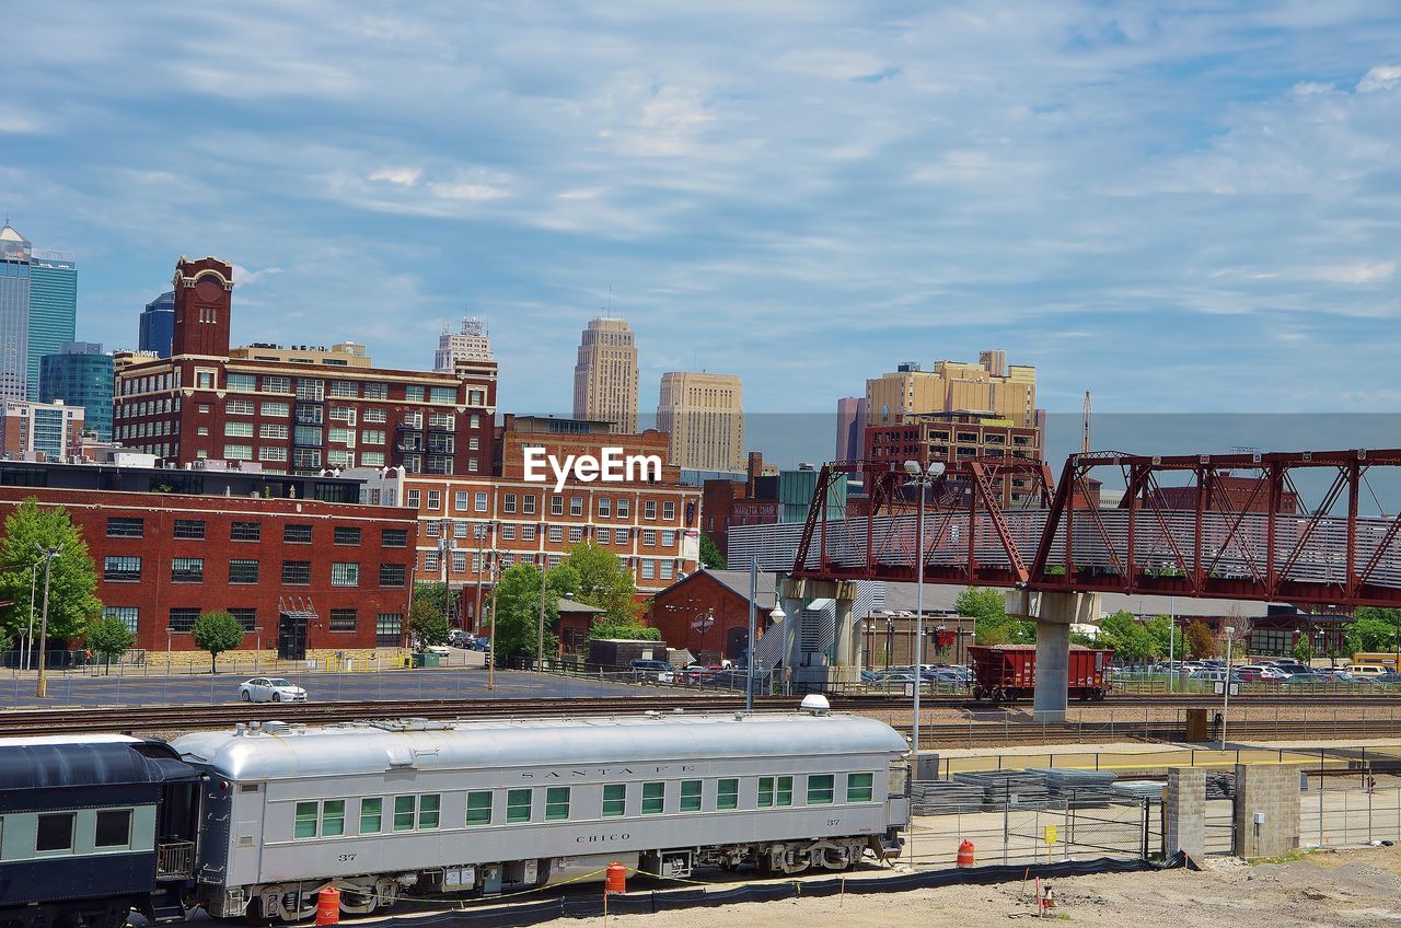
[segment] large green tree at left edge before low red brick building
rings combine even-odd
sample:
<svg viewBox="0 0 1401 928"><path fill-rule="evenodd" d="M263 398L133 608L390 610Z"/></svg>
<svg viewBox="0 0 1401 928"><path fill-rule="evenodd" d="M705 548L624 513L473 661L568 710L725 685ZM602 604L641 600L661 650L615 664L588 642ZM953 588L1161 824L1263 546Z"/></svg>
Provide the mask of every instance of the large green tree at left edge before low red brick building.
<svg viewBox="0 0 1401 928"><path fill-rule="evenodd" d="M39 550L57 548L49 565L49 639L70 641L102 613L97 599L97 569L83 533L62 506L39 506L32 496L6 516L0 541L0 636L18 638L29 629L31 580L38 587L34 600L34 634L39 634L43 604L43 558Z"/></svg>

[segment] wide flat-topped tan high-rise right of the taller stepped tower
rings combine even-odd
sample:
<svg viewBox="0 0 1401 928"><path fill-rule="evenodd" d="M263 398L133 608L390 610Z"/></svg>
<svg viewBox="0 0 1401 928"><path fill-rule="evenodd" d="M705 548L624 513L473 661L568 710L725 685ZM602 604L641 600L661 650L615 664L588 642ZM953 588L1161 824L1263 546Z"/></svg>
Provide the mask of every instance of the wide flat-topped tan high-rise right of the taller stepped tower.
<svg viewBox="0 0 1401 928"><path fill-rule="evenodd" d="M661 374L657 428L671 436L668 463L675 467L744 470L744 388L734 374Z"/></svg>

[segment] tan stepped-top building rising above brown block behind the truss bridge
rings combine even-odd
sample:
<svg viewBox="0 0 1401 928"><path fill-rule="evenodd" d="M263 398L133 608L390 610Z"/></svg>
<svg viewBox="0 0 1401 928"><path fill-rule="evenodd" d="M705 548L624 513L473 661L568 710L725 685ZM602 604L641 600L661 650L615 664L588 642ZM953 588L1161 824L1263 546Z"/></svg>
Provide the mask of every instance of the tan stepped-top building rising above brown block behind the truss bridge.
<svg viewBox="0 0 1401 928"><path fill-rule="evenodd" d="M1037 425L1037 369L1007 364L1006 352L988 350L978 363L940 360L933 370L905 363L866 381L866 425L891 425L906 416L991 412L1017 428Z"/></svg>

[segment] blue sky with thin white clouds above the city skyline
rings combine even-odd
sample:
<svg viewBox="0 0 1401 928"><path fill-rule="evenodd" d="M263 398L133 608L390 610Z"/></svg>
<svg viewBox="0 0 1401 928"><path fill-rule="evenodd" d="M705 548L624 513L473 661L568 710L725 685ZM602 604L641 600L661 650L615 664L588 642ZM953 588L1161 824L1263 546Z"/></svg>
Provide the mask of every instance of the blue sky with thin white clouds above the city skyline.
<svg viewBox="0 0 1401 928"><path fill-rule="evenodd" d="M504 409L567 409L605 304L644 411L992 346L1061 412L1397 409L1395 3L698 7L11 13L0 210L77 252L80 338L214 254L238 341L417 367L485 315Z"/></svg>

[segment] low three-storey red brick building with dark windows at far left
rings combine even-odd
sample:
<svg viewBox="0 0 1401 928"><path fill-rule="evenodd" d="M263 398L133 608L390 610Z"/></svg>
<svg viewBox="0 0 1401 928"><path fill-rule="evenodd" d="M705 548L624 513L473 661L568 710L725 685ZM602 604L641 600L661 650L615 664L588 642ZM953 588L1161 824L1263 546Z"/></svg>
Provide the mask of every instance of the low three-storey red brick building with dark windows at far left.
<svg viewBox="0 0 1401 928"><path fill-rule="evenodd" d="M399 646L417 521L318 499L356 491L336 478L0 463L0 519L29 498L67 509L98 599L149 652L193 649L189 629L212 610L242 622L244 649L275 649L283 613L308 614L314 652Z"/></svg>

